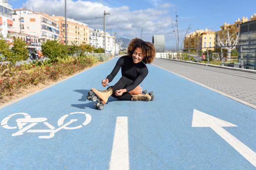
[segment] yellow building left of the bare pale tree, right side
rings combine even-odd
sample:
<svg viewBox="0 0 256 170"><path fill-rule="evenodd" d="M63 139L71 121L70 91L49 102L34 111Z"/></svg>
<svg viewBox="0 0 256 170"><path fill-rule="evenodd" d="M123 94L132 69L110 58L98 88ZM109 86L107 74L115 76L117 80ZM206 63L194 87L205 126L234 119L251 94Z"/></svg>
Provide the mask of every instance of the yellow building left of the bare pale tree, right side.
<svg viewBox="0 0 256 170"><path fill-rule="evenodd" d="M208 30L196 30L195 32L187 35L184 40L185 49L194 49L207 51L214 50L215 46L215 32Z"/></svg>

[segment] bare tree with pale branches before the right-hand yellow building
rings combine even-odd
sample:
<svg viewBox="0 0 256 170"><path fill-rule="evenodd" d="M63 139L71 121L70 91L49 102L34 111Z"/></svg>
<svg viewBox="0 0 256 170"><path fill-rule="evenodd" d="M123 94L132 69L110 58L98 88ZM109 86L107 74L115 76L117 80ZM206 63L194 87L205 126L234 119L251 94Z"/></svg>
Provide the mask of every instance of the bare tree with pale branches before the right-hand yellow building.
<svg viewBox="0 0 256 170"><path fill-rule="evenodd" d="M226 49L228 51L227 58L230 58L231 51L236 48L235 46L238 42L238 37L239 37L239 34L236 35L236 38L235 38L235 34L230 35L229 29L227 30L227 34L224 36L224 38L220 39L218 36L217 45L220 47L223 47L224 49ZM231 46L231 47L226 47L226 46Z"/></svg>

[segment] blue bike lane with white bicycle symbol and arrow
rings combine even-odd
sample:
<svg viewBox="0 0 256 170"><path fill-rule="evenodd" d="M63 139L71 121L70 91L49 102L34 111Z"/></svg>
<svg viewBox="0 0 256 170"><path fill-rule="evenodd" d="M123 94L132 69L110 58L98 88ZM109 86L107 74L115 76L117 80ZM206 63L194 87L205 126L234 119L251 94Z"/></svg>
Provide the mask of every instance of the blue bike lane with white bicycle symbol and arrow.
<svg viewBox="0 0 256 170"><path fill-rule="evenodd" d="M95 110L117 59L1 108L0 169L256 169L256 110L164 69L148 66L154 101Z"/></svg>

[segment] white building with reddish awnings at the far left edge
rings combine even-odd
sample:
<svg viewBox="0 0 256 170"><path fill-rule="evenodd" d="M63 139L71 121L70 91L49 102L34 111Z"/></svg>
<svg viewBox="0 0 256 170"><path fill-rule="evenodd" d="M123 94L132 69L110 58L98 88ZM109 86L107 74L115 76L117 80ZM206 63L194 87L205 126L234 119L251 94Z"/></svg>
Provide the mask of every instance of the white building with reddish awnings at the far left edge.
<svg viewBox="0 0 256 170"><path fill-rule="evenodd" d="M12 6L8 4L8 0L0 0L0 34L7 38L7 34L14 31L12 26Z"/></svg>

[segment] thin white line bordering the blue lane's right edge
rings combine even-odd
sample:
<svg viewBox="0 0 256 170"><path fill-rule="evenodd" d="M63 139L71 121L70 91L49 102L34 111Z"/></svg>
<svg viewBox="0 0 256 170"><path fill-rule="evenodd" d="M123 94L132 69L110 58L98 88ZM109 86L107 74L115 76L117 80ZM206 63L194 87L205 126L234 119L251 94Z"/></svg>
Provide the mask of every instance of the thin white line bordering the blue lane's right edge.
<svg viewBox="0 0 256 170"><path fill-rule="evenodd" d="M151 64L151 65L154 65L154 64ZM161 68L160 66L157 66L157 65L154 65L154 66L156 66L156 67L158 67L158 68ZM205 88L208 88L208 89L210 89L210 90L212 90L212 91L215 91L215 92L217 92L217 93L219 93L219 94L221 94L221 95L223 95L223 96L226 96L226 97L228 97L228 98L230 98L230 99L233 99L233 100L235 100L235 101L237 101L237 102L241 102L241 103L243 103L243 104L245 104L245 105L248 105L248 106L250 106L250 107L256 109L256 105L254 105L254 104L252 104L252 103L243 101L243 100L238 99L238 98L236 98L236 97L234 97L234 96L231 96L231 95L229 95L229 94L226 94L226 93L223 93L223 92L221 92L221 91L219 91L219 90L216 90L216 89L214 89L214 88L212 88L212 87L209 87L209 86L207 86L207 85L203 85L203 84L201 84L201 83L198 83L198 82L196 82L196 81L194 81L194 80L192 80L192 79L189 79L189 78L187 78L187 77L184 77L184 76L182 76L182 75L179 75L179 74L177 74L177 73L174 73L174 72L172 72L172 71L170 71L170 70L168 70L168 69L165 69L165 68L162 68L162 69L164 69L164 70L166 70L166 71L169 71L169 72L171 72L172 74L175 74L175 75L177 75L177 76L179 76L179 77L182 77L182 78L184 78L184 79L186 79L186 80L189 80L189 81L191 81L191 82L193 82L193 83L195 83L195 84L197 84L197 85L201 85L201 86L203 86L203 87L205 87Z"/></svg>

